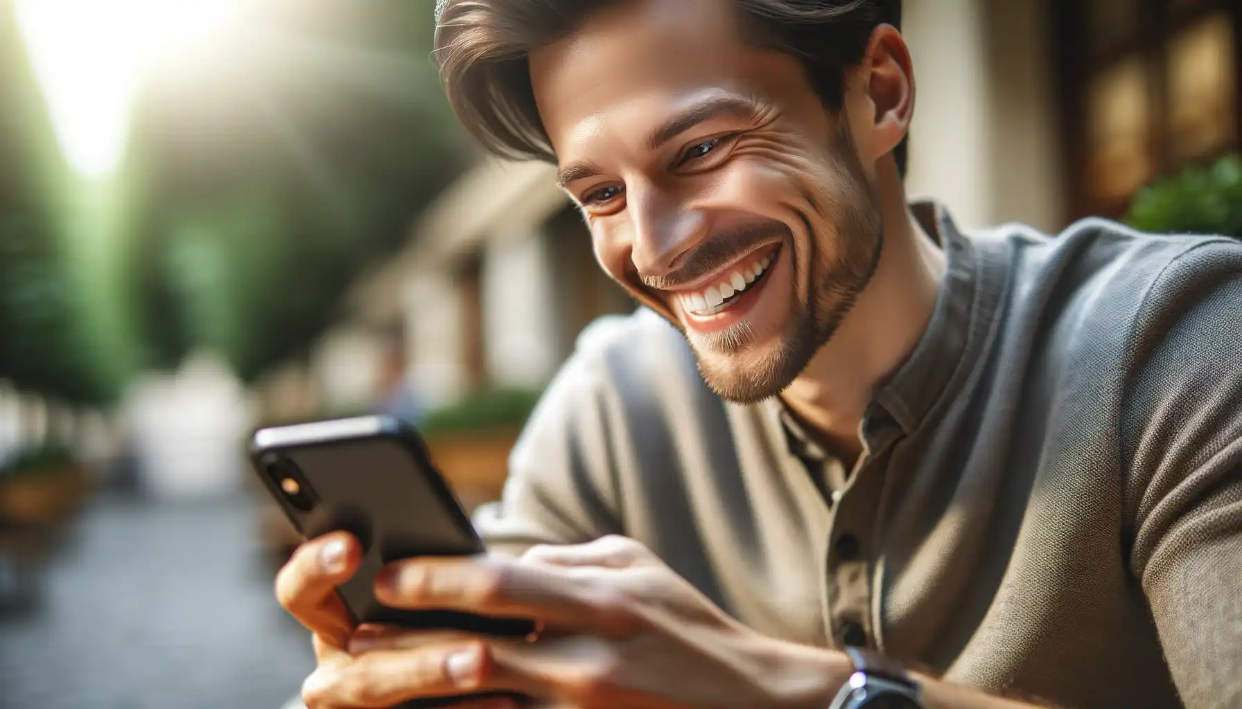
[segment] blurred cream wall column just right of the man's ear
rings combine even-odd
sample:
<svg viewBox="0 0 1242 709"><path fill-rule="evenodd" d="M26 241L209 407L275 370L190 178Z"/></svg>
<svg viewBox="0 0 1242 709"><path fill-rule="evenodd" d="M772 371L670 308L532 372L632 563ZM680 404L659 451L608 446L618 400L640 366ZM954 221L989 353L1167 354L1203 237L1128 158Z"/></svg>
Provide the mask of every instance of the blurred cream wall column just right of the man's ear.
<svg viewBox="0 0 1242 709"><path fill-rule="evenodd" d="M1047 14L1043 0L904 5L918 84L907 190L960 226L1063 226Z"/></svg>

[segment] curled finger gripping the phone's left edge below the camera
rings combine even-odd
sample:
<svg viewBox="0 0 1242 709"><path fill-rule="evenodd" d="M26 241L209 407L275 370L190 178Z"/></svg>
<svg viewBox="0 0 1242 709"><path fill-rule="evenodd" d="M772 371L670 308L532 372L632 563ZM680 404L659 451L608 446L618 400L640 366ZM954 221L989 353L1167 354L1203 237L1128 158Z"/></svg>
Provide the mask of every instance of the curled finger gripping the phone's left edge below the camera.
<svg viewBox="0 0 1242 709"><path fill-rule="evenodd" d="M334 531L299 546L276 575L281 606L339 647L344 647L351 622L335 587L354 574L359 556L358 541L347 533Z"/></svg>

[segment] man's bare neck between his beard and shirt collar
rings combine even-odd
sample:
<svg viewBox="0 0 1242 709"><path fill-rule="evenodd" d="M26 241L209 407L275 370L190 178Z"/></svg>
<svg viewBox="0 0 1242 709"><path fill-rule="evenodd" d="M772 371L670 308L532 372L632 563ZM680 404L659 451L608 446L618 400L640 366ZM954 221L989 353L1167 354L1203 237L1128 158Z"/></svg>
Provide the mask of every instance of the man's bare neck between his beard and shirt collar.
<svg viewBox="0 0 1242 709"><path fill-rule="evenodd" d="M927 330L945 271L944 252L905 204L895 166L882 165L878 181L884 243L876 273L832 339L781 394L845 461L862 451L858 427L876 386Z"/></svg>

